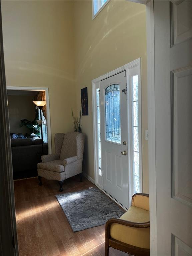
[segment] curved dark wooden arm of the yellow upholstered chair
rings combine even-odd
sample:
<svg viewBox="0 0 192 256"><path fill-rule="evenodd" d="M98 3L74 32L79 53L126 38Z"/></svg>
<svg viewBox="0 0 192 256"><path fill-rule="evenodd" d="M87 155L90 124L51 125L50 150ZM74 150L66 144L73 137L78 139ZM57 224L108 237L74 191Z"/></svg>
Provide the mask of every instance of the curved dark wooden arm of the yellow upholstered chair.
<svg viewBox="0 0 192 256"><path fill-rule="evenodd" d="M124 225L124 226L128 226L128 227L132 227L132 228L149 228L150 227L150 222L149 221L142 222L142 223L137 223L137 222L131 222L131 221L128 221L128 220L112 218L112 219L109 219L106 222L106 225L105 225L106 241L110 237L110 228L111 228L111 225L113 223Z"/></svg>

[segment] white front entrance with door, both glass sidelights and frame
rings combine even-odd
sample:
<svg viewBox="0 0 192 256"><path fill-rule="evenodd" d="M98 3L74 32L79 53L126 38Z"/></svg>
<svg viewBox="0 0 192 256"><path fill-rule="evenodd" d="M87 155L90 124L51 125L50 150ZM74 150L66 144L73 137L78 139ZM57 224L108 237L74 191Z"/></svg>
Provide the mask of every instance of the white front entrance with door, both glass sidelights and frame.
<svg viewBox="0 0 192 256"><path fill-rule="evenodd" d="M124 208L142 192L140 58L92 81L95 184Z"/></svg>

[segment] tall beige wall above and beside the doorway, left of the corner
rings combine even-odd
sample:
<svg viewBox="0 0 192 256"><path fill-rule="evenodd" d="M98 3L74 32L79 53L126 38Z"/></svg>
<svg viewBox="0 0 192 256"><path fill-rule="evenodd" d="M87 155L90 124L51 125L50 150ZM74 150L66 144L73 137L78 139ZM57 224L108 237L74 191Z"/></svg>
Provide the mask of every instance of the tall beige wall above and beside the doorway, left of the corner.
<svg viewBox="0 0 192 256"><path fill-rule="evenodd" d="M54 134L73 130L72 1L1 1L7 86L48 87Z"/></svg>

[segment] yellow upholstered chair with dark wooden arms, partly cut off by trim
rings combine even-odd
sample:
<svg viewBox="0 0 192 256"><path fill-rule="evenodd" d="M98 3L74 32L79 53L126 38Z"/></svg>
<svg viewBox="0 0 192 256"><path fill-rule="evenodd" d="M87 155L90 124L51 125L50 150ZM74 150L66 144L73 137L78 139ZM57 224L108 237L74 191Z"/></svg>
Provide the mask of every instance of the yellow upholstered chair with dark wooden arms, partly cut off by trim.
<svg viewBox="0 0 192 256"><path fill-rule="evenodd" d="M105 256L109 247L136 256L150 255L149 195L136 193L131 207L120 219L109 219L105 227Z"/></svg>

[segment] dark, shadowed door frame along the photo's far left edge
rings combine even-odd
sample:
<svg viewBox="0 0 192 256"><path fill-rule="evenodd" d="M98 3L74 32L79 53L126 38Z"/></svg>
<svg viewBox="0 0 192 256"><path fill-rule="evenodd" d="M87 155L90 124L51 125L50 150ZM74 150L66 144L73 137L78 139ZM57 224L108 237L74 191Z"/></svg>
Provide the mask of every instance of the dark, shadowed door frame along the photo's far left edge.
<svg viewBox="0 0 192 256"><path fill-rule="evenodd" d="M13 185L13 167L11 158L11 139L9 129L9 114L7 105L7 90L5 78L5 62L3 50L3 35L2 35L2 17L1 17L1 2L0 2L0 187L1 187L1 234L0 234L0 254L19 256L19 248L17 242L17 227L15 216L15 198Z"/></svg>

